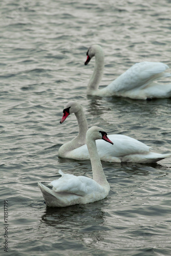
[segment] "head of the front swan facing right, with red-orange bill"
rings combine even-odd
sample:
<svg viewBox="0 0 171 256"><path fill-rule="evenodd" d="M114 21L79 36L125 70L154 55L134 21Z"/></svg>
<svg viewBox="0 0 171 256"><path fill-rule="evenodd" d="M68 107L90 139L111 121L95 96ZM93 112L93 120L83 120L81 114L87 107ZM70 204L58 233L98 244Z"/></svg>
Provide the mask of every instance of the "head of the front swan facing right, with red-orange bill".
<svg viewBox="0 0 171 256"><path fill-rule="evenodd" d="M98 126L92 126L86 134L86 140L105 140L111 144L113 144L113 142L108 138L106 132L98 127Z"/></svg>

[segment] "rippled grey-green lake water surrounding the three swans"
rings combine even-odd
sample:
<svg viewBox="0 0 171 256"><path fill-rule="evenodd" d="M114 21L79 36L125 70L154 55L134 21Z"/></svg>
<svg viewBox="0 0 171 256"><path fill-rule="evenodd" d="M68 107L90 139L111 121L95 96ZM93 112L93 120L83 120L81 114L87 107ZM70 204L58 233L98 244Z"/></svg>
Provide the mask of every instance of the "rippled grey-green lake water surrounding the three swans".
<svg viewBox="0 0 171 256"><path fill-rule="evenodd" d="M86 87L105 53L101 85L138 61L171 67L170 1L2 1L1 200L8 200L8 255L170 255L171 159L156 165L103 162L109 196L99 202L48 208L37 181L63 172L92 177L89 161L58 158L78 132L63 106L77 100L89 125L171 152L171 100L93 98ZM169 78L164 79L164 81ZM3 208L2 208L3 209ZM3 211L2 211L3 212ZM1 220L1 255L5 255Z"/></svg>

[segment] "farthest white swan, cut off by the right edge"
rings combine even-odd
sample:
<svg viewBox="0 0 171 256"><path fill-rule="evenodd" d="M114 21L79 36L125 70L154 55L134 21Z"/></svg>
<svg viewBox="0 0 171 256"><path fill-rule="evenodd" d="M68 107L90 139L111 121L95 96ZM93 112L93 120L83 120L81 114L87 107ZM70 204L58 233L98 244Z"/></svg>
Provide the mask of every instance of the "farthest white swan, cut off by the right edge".
<svg viewBox="0 0 171 256"><path fill-rule="evenodd" d="M171 83L159 84L154 82L157 78L171 75L164 72L169 67L162 62L143 61L136 63L111 82L109 86L99 90L98 86L104 68L104 55L99 45L92 45L88 49L87 60L84 64L88 65L93 56L95 56L95 68L88 84L87 95L119 96L146 100L171 97Z"/></svg>

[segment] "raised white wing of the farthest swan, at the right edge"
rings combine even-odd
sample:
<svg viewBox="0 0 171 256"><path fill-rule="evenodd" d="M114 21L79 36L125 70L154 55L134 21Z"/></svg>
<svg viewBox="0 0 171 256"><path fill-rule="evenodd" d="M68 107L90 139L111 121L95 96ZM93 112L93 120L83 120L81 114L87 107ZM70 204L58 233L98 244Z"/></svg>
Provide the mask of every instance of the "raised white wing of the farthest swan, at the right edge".
<svg viewBox="0 0 171 256"><path fill-rule="evenodd" d="M106 88L114 92L142 89L157 78L170 76L170 73L164 72L168 68L162 62L139 62L120 75Z"/></svg>

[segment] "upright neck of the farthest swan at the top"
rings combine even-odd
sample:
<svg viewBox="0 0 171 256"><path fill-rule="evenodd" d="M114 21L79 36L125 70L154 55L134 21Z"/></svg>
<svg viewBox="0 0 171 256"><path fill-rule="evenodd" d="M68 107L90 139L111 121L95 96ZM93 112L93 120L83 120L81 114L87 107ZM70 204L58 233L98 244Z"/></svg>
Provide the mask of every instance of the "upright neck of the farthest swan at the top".
<svg viewBox="0 0 171 256"><path fill-rule="evenodd" d="M93 74L90 78L87 94L92 95L95 91L98 90L99 83L101 81L104 69L104 55L101 49L95 53L95 68Z"/></svg>

